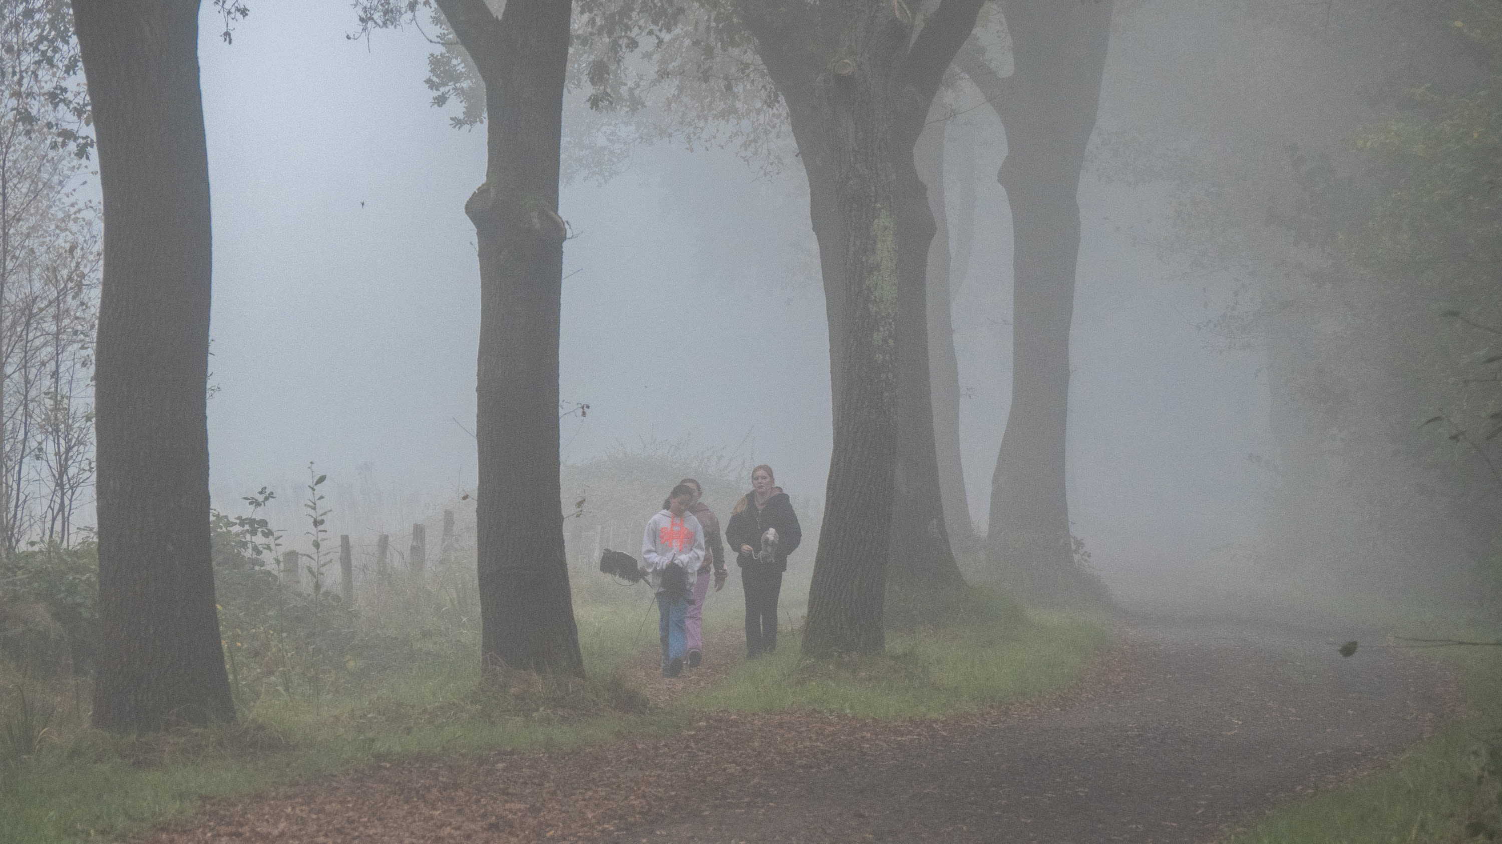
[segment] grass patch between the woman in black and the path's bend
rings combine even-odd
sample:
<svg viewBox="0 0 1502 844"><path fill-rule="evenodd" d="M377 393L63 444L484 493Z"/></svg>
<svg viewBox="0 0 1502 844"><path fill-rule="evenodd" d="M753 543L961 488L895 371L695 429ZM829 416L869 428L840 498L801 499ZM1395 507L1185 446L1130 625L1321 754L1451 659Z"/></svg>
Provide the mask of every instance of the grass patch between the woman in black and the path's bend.
<svg viewBox="0 0 1502 844"><path fill-rule="evenodd" d="M951 626L889 632L883 655L802 659L799 635L789 634L775 653L736 665L680 706L937 718L1065 688L1107 641L1089 616L1024 610L970 587Z"/></svg>

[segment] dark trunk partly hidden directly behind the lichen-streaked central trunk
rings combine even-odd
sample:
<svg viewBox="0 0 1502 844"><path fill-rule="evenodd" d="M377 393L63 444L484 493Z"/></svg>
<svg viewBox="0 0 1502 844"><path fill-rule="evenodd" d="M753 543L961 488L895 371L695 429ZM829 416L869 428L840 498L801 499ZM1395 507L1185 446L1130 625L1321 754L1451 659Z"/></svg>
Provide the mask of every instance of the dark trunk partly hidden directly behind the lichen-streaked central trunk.
<svg viewBox="0 0 1502 844"><path fill-rule="evenodd" d="M922 137L943 146L943 120L927 123L925 108L894 132L892 168L898 183L897 212L897 473L892 493L892 550L886 593L888 625L942 623L957 605L964 578L949 547L934 410L930 392L928 267L937 231L928 189L916 167ZM933 146L930 143L930 146ZM933 174L930 174L933 177ZM940 195L942 195L942 179ZM948 249L948 245L943 245ZM945 261L948 266L948 261ZM948 287L948 285L946 285ZM948 309L948 291L943 308ZM948 338L945 338L948 341ZM951 344L951 356L952 344Z"/></svg>

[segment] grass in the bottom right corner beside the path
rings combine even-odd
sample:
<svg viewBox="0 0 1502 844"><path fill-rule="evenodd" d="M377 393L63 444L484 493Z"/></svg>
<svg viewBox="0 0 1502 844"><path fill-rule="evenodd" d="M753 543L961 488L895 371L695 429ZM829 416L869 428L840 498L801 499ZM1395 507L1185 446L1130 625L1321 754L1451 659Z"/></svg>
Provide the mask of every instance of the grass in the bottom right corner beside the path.
<svg viewBox="0 0 1502 844"><path fill-rule="evenodd" d="M1280 808L1224 844L1449 844L1502 836L1502 647L1427 653L1460 667L1470 716L1394 767Z"/></svg>

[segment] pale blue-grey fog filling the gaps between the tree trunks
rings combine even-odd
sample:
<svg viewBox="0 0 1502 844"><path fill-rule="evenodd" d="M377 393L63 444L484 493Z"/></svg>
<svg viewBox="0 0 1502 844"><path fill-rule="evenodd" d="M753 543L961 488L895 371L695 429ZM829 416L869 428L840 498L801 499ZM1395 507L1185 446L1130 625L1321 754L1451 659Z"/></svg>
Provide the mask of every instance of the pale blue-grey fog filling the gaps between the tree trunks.
<svg viewBox="0 0 1502 844"><path fill-rule="evenodd" d="M1164 14L1182 21L1184 11ZM1164 131L1179 143L1206 119L1173 113L1197 78L1176 68L1194 56L1161 48L1143 20L1152 12L1117 14L1096 146L1143 110L1176 120ZM482 173L484 132L455 131L430 105L433 47L419 33L345 39L353 29L339 6L306 3L258 5L230 47L203 27L212 484L227 511L270 485L290 520L285 491L314 460L336 488L363 478L409 502L389 524L350 524L356 499L336 497L335 532L395 533L475 482L478 284L463 201ZM951 89L951 143L975 147L967 173L951 150L948 182L951 207L961 179L978 194L954 318L970 518L984 530L1009 404L1011 219L994 180L1000 125L973 87ZM560 395L590 405L562 420L563 460L680 443L771 463L787 490L820 497L828 330L796 159L662 140L602 176L577 174L562 198L575 239ZM1263 363L1203 327L1238 279L1155 248L1172 234L1170 194L1089 173L1080 189L1068 481L1074 532L1107 578L1148 554L1187 560L1253 541L1265 515L1266 473L1248 460L1274 449ZM664 396L685 393L664 411Z"/></svg>

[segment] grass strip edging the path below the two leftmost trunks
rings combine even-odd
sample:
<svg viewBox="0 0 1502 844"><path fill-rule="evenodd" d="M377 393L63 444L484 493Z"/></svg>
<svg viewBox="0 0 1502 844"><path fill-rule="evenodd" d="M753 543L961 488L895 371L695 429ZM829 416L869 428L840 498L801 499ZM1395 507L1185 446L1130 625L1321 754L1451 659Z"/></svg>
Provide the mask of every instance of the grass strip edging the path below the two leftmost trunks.
<svg viewBox="0 0 1502 844"><path fill-rule="evenodd" d="M635 652L640 616L635 605L580 608L587 683L541 685L533 676L532 685L523 677L482 692L476 659L455 649L341 695L266 695L230 727L134 739L86 728L86 713L74 715L74 724L57 713L39 752L0 764L0 842L126 838L192 812L200 797L246 794L379 760L553 749L674 730L680 715L646 713L644 700L620 685L617 668ZM41 724L17 722L17 730Z"/></svg>

